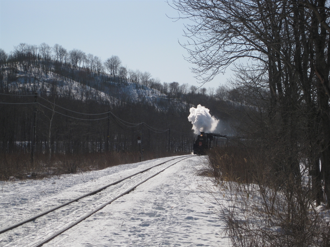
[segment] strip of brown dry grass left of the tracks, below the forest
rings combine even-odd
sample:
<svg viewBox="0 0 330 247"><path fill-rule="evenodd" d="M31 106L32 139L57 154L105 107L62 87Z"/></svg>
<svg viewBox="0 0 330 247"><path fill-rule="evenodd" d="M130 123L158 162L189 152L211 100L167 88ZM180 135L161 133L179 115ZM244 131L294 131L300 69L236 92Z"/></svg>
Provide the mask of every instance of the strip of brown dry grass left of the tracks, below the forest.
<svg viewBox="0 0 330 247"><path fill-rule="evenodd" d="M174 156L186 153L145 153L144 160L156 157ZM7 153L0 155L0 180L10 177L19 179L44 178L68 173L101 170L107 167L136 163L140 161L138 152L106 152L81 154L55 154L49 160L48 154L36 154L34 164L29 153Z"/></svg>

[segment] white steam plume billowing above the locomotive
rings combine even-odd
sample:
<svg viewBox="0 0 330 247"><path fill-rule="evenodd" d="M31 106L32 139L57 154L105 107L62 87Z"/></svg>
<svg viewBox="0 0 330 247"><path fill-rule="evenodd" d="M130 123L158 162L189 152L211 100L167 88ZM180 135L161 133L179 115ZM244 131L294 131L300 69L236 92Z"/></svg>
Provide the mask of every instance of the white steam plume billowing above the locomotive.
<svg viewBox="0 0 330 247"><path fill-rule="evenodd" d="M190 108L188 120L192 123L195 134L199 134L199 132L212 133L219 123L219 120L211 116L210 110L201 105L198 105L197 108Z"/></svg>

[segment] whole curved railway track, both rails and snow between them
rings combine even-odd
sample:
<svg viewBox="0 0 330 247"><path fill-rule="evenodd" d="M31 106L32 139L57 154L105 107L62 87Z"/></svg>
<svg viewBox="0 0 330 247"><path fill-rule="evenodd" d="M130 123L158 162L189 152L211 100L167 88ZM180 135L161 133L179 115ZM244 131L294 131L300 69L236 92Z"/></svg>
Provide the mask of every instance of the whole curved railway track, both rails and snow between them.
<svg viewBox="0 0 330 247"><path fill-rule="evenodd" d="M29 222L31 222L31 221L36 221L36 220L38 220L39 218L41 218L41 217L43 217L43 216L47 216L47 215L49 215L50 213L58 213L58 211L59 211L59 209L60 208L64 208L64 207L66 207L66 206L70 206L71 204L74 204L74 203L79 203L79 201L81 201L82 199L85 199L85 198L88 198L88 197L92 197L92 196L95 196L95 195L97 195L97 194L99 194L100 192L102 192L102 191L104 191L104 190L107 190L109 187L110 188L112 188L111 186L114 186L114 185L118 185L118 184L120 184L121 182L123 182L123 181L125 181L125 180L127 180L127 179L130 179L131 180L131 178L135 178L135 179L140 179L140 181L138 181L138 182L135 182L134 183L134 185L133 186L129 186L129 188L127 189L127 188L121 188L121 191L120 191L120 193L118 194L118 192L117 191L115 191L114 193L116 194L116 196L114 196L113 194L111 194L110 196L105 196L105 199L106 199L106 202L104 202L104 203L100 203L99 205L97 205L97 206L95 206L95 203L93 203L94 201L100 201L100 199L104 199L104 197L101 197L101 198L92 198L92 199L89 199L88 201L91 201L91 202L89 202L88 203L88 207L89 208L93 208L93 210L89 210L89 212L88 213L85 213L84 215L82 215L82 216L80 216L80 217L78 217L78 219L76 219L76 220L71 220L69 223L64 223L64 224L62 224L61 226L58 226L57 228L56 228L56 230L58 229L58 228L61 228L61 229L59 229L58 231L56 231L55 233L53 233L54 232L54 230L53 230L53 228L52 228L52 230L50 230L50 231L48 231L48 229L46 229L42 234L37 234L38 236L37 237L34 237L36 234L33 232L33 230L31 230L31 227L29 226L29 227L27 227L27 231L29 231L29 232L33 232L32 234L30 234L29 236L27 236L27 238L31 238L31 240L32 240L32 242L31 242L31 244L27 244L27 246L33 246L33 247L39 247L39 246L42 246L43 244L45 244L45 243L47 243L47 242L49 242L51 239L53 239L53 238L55 238L56 236L58 236L58 235L60 235L61 233L64 233L65 231L67 231L68 229L70 229L70 228L72 228L72 227L74 227L75 225L77 225L77 224L79 224L80 222L82 222L83 220L85 220L85 219L87 219L88 217L90 217L91 215L93 215L94 213L96 213L97 211L99 211L99 210L101 210L102 208L104 208L105 206L107 206L107 205L109 205L109 204L111 204L112 202L114 202L115 200L117 200L118 198L120 198L120 197L122 197L123 195L126 195L126 194L128 194L128 193L130 193L131 191L133 191L137 186L139 186L140 184L142 184L142 183L144 183L144 182L146 182L146 181L148 181L150 178L153 178L153 177L155 177L155 176L157 176L159 173L161 173L161 172L163 172L164 170L166 170L167 168L169 168L169 167L171 167L171 166L173 166L173 165L175 165L175 164L177 164L178 162L180 162L180 161L182 161L182 160L184 160L184 159L187 159L187 158L190 158L190 157L194 157L195 155L186 155L186 156L181 156L181 157L177 157L177 158L173 158L173 159L170 159L170 160L167 160L167 161L164 161L164 162L161 162L161 163L159 163L159 164L156 164L156 165L154 165L154 166L151 166L151 167L149 167L149 168L147 168L147 169L144 169L144 170L142 170L142 171L139 171L139 172L137 172L137 173L134 173L134 174L132 174L132 175L130 175L130 176L127 176L127 177L125 177L125 178L122 178L122 179L119 179L119 180L117 180L117 181L115 181L115 182L112 182L112 183L110 183L110 184L108 184L108 185L106 185L106 186L103 186L103 187L101 187L101 188L99 188L99 189L97 189L97 190L94 190L94 191L92 191L92 192L89 192L89 193L87 193L87 194L84 194L84 195L82 195L82 196L80 196L80 197L77 197L77 198L75 198L75 199L73 199L73 200L70 200L70 201L68 201L68 202L66 202L66 203L63 203L63 204L61 204L61 205L59 205L59 206L56 206L56 207L53 207L53 208L51 208L51 209L49 209L49 210L47 210L47 211L45 211L45 212L43 212L43 213L40 213L40 214L37 214L37 215L35 215L35 216L33 216L33 217L30 217L30 218L28 218L28 219L26 219L26 220L23 220L23 221L21 221L21 222L18 222L18 223L16 223L16 224L14 224L14 225L11 225L11 226L9 226L9 227L6 227L6 228L4 228L4 229L1 229L0 230L0 234L2 234L3 235L3 233L10 233L11 232L11 230L13 230L13 231L15 231L14 229L16 229L17 227L20 227L20 226L24 226L24 225L26 225L27 223L29 223ZM179 160L178 160L179 159ZM176 161L176 160L178 160L178 161ZM174 162L174 163L172 163L171 161L176 161L176 162ZM171 163L170 165L165 165L166 163ZM158 166L161 166L161 165L165 165L165 168L162 168L160 171L157 171L156 173L152 173L152 175L149 175L147 178L145 178L145 177L139 177L139 176L137 176L137 175L139 175L139 174L142 174L142 173L145 173L145 172L148 172L149 171L149 173L152 171L151 169L153 169L153 168L155 168L155 167L158 167ZM142 180L142 179L143 180ZM142 181L141 181L142 180ZM124 185L123 185L124 186ZM114 189L114 190L116 190L116 189ZM108 198L107 198L108 197ZM110 198L111 199L110 199ZM86 202L83 202L83 204L87 204ZM77 209L77 207L78 207L78 209ZM86 207L86 206L85 206ZM78 214L79 214L79 209L80 209L80 206L76 206L76 208L74 208L74 209L66 209L66 210L61 210L61 212L67 212L67 210L71 210L71 214L72 213L77 213L78 212ZM64 217L62 218L62 219L64 219L65 217L66 217L67 215L64 215ZM50 218L51 218L52 216L50 216ZM59 221L59 219L57 219L56 220L57 222ZM45 222L47 223L48 221L47 220L45 220ZM48 224L48 226L49 226L49 224ZM47 228L47 226L45 226L45 228ZM19 233L14 233L14 234L19 234ZM1 240L1 237L3 237L2 235L0 235L0 240ZM41 235L41 236L39 236L39 235ZM37 240L35 240L36 238L38 238ZM40 239L42 239L42 240L40 240ZM37 242L37 243L36 243ZM10 243L9 243L9 245L10 245ZM7 246L7 245L5 245L5 246Z"/></svg>

